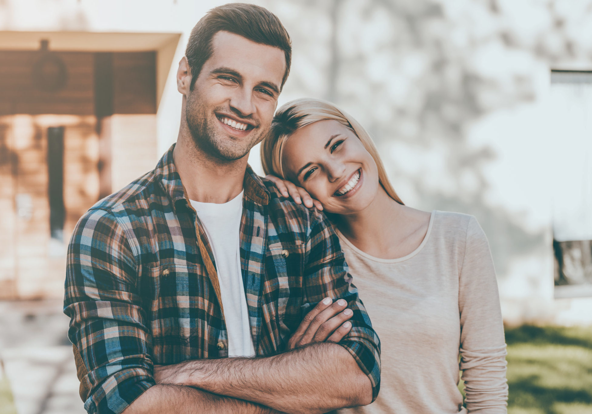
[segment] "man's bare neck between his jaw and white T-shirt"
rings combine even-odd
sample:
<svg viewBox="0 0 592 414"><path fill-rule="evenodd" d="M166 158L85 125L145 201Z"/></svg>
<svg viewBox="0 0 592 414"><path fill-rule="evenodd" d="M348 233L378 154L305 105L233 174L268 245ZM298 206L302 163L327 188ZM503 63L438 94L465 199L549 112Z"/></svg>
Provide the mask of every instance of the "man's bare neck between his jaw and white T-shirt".
<svg viewBox="0 0 592 414"><path fill-rule="evenodd" d="M222 161L195 147L191 135L179 132L173 159L190 200L226 203L243 190L248 154L235 161Z"/></svg>

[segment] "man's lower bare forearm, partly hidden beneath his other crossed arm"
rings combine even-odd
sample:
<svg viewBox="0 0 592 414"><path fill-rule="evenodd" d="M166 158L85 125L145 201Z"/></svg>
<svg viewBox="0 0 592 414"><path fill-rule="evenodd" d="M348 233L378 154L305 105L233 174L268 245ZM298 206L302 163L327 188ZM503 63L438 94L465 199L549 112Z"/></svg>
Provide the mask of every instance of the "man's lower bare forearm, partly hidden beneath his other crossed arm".
<svg viewBox="0 0 592 414"><path fill-rule="evenodd" d="M281 414L274 409L195 388L157 384L137 397L123 414Z"/></svg>

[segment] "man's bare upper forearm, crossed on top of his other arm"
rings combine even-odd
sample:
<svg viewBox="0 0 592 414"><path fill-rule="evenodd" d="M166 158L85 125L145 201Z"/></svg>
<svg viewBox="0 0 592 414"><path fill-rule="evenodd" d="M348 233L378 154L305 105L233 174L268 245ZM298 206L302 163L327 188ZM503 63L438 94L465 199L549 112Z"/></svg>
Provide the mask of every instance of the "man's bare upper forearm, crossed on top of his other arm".
<svg viewBox="0 0 592 414"><path fill-rule="evenodd" d="M181 384L287 413L324 413L372 400L370 380L337 344L312 344L265 358L185 361L167 371Z"/></svg>

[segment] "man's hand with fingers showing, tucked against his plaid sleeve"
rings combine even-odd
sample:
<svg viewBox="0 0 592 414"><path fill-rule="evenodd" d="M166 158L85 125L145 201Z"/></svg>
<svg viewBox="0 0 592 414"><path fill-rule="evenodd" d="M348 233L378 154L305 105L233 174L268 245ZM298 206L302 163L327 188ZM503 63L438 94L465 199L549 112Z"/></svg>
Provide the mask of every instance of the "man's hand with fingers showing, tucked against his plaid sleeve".
<svg viewBox="0 0 592 414"><path fill-rule="evenodd" d="M352 329L351 309L345 309L348 303L339 299L336 302L330 297L318 302L313 310L304 316L298 329L288 341L288 350L311 344L313 342L339 342Z"/></svg>

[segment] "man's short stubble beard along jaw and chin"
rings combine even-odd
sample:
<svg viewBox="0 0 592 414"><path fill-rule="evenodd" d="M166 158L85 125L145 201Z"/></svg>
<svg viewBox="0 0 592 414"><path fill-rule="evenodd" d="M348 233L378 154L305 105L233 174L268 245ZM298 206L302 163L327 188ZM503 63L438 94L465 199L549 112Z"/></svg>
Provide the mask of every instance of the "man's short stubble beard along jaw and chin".
<svg viewBox="0 0 592 414"><path fill-rule="evenodd" d="M252 136L246 138L249 141L246 141L244 144L241 144L239 140L233 140L233 138L229 138L228 136L223 137L221 134L224 134L224 132L220 133L220 131L217 131L217 125L212 124L212 122L220 121L218 121L215 115L210 117L210 111L208 111L208 108L206 108L205 105L201 105L200 102L198 102L198 99L194 99L194 95L195 92L189 94L185 104L185 120L187 122L187 127L191 133L195 148L214 159L221 161L236 161L242 159L269 131L269 127L262 128L261 125L259 125L258 128L255 128L258 130L259 134L255 134L256 131L252 131ZM215 111L231 112L226 106L214 108L211 113L213 114Z"/></svg>

